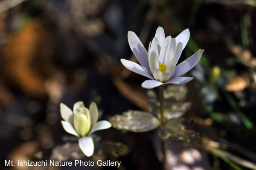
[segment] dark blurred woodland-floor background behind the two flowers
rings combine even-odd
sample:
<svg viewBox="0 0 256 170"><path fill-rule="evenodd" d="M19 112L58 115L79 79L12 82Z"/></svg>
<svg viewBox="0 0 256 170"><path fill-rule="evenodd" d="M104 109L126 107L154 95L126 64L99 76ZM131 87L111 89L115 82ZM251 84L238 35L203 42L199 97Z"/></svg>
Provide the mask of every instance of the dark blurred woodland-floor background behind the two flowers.
<svg viewBox="0 0 256 170"><path fill-rule="evenodd" d="M186 84L192 102L186 115L203 139L171 142L170 169L256 170L255 7L255 0L0 0L0 169L73 169L4 167L9 159L49 159L65 143L60 102L72 108L94 101L101 119L148 111L140 86L147 78L126 70L120 59L136 61L127 31L147 49L162 26L172 37L189 28L180 61L205 50ZM118 158L81 160L121 161L121 170L161 168L155 132L111 128L99 134L128 149Z"/></svg>

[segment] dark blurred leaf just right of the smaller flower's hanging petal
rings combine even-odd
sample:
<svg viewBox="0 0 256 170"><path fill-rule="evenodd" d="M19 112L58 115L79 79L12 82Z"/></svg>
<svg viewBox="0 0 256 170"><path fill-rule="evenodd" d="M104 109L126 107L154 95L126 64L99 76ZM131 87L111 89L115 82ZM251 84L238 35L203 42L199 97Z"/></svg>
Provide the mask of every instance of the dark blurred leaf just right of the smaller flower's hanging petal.
<svg viewBox="0 0 256 170"><path fill-rule="evenodd" d="M124 155L128 147L121 142L99 142L95 144L95 153L107 153L111 156L118 157Z"/></svg>

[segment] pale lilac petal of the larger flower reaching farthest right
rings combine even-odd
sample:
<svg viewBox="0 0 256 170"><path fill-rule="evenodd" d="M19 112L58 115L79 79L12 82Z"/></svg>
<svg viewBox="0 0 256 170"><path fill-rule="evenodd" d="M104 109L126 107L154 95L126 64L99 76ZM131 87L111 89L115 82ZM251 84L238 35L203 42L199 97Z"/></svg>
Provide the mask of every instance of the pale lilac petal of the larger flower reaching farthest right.
<svg viewBox="0 0 256 170"><path fill-rule="evenodd" d="M176 66L172 77L180 77L191 70L199 62L204 50L199 49L195 54L181 62Z"/></svg>

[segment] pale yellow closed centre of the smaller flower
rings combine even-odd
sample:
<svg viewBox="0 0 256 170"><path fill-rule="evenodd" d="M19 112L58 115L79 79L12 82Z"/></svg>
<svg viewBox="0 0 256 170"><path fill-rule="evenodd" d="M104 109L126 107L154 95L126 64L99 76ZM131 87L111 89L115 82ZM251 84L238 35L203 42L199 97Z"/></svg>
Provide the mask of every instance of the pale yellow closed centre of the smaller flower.
<svg viewBox="0 0 256 170"><path fill-rule="evenodd" d="M87 108L82 108L81 112L74 114L74 127L81 137L87 136L90 126L90 111Z"/></svg>

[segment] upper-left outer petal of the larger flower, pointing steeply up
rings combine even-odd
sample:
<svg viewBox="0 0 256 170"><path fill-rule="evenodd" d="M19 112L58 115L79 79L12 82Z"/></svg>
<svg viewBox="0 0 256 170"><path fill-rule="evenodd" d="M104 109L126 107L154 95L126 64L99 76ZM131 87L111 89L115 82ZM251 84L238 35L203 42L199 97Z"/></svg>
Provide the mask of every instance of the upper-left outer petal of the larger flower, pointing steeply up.
<svg viewBox="0 0 256 170"><path fill-rule="evenodd" d="M128 31L128 43L130 45L131 51L140 62L140 64L149 70L148 51L145 49L139 37L133 31Z"/></svg>

